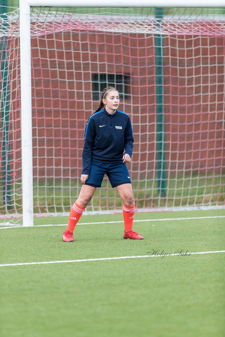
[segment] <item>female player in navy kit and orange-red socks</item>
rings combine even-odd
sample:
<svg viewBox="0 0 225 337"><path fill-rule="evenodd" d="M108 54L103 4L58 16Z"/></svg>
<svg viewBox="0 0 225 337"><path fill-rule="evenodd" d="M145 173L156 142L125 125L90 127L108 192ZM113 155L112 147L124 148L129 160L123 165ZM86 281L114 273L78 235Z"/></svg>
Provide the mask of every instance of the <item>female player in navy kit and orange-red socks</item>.
<svg viewBox="0 0 225 337"><path fill-rule="evenodd" d="M105 88L99 108L88 119L82 155L81 182L83 185L69 213L68 226L62 236L64 242L74 241L74 228L96 188L101 187L105 174L112 187L119 192L123 202L125 228L123 238L143 239L132 230L135 202L130 174L125 164L131 161L133 130L130 117L117 110L118 106L118 91L114 87Z"/></svg>

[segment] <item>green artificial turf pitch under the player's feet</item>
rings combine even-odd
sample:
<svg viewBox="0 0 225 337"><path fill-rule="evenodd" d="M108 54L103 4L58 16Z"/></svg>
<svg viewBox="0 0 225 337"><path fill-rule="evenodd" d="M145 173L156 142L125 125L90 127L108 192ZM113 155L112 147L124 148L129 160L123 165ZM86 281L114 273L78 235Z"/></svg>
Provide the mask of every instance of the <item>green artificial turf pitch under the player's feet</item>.
<svg viewBox="0 0 225 337"><path fill-rule="evenodd" d="M0 264L224 250L224 210L137 213L144 240L123 240L121 214L0 229ZM157 221L165 218L180 220ZM156 221L137 221L137 220ZM103 222L93 224L91 222ZM38 226L55 224L55 226ZM0 267L1 337L223 336L224 253Z"/></svg>

